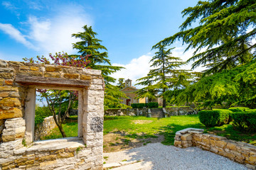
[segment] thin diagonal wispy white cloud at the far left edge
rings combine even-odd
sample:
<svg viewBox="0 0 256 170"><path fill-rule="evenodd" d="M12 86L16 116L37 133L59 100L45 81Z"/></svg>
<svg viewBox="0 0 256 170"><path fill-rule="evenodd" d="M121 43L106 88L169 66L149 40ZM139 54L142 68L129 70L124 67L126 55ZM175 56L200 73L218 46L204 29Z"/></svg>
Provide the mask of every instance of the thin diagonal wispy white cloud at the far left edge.
<svg viewBox="0 0 256 170"><path fill-rule="evenodd" d="M8 34L11 38L14 38L17 42L21 42L23 45L25 45L28 48L32 48L36 50L36 47L31 44L28 40L26 40L25 36L21 34L19 30L14 28L9 23L0 23L0 30L4 31L4 33Z"/></svg>

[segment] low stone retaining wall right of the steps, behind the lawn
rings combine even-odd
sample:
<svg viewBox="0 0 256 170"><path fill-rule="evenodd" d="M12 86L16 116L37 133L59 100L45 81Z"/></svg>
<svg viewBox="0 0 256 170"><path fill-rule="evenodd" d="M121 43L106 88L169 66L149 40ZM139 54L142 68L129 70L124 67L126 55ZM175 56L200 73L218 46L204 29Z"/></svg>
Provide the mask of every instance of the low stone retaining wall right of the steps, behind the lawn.
<svg viewBox="0 0 256 170"><path fill-rule="evenodd" d="M196 115L198 113L191 107L171 107L165 109L169 115Z"/></svg>

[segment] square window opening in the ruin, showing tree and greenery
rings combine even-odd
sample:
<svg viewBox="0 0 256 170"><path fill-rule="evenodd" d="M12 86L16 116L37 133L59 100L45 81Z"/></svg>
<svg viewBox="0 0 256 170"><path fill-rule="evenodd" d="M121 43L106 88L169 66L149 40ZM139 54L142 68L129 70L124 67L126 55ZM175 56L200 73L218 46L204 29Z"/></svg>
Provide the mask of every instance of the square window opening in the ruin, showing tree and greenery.
<svg viewBox="0 0 256 170"><path fill-rule="evenodd" d="M63 138L63 132L65 132L67 137L78 137L78 91L70 89L65 91L56 89L51 89L52 91L46 90L36 89L35 132L33 141L47 140L49 137L46 136L51 134L51 139ZM48 95L48 100L46 100L46 97L43 96L44 93L55 93L55 95ZM62 98L61 101L58 100L60 97ZM74 107L76 112L70 113L70 109ZM60 119L58 117L59 115L61 115ZM38 119L36 119L37 117ZM60 124L63 132L59 129L58 125ZM67 126L70 125L72 125L72 130L71 128L67 129Z"/></svg>

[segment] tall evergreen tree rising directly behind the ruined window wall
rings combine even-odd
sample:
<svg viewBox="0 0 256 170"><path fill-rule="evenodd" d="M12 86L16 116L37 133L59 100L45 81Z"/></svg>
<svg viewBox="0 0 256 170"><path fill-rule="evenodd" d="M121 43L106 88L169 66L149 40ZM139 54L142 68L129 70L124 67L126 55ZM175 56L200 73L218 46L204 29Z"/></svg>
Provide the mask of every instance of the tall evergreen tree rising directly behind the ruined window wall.
<svg viewBox="0 0 256 170"><path fill-rule="evenodd" d="M78 50L78 58L80 56L90 55L90 63L87 68L100 69L102 71L102 77L105 80L105 108L107 107L125 107L120 103L119 98L126 98L122 91L117 90L111 83L115 82L110 74L119 71L123 67L112 66L108 59L107 48L100 44L102 40L96 38L97 33L92 30L92 26L83 26L84 32L73 34L75 38L79 38L80 41L73 43L73 48Z"/></svg>

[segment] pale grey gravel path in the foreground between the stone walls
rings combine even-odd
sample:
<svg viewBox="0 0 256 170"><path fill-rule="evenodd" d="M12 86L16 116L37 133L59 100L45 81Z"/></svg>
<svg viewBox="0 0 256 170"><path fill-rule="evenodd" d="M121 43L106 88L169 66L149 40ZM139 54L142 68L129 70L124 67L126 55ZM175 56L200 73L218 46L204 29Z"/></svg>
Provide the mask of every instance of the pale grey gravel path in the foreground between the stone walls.
<svg viewBox="0 0 256 170"><path fill-rule="evenodd" d="M221 157L218 154L204 151L197 147L181 149L174 146L166 146L161 143L152 143L144 147L137 147L121 152L104 153L108 157L104 161L107 164L143 159L144 162L151 162L152 169L171 170L171 169L228 169L238 170L247 169L244 165Z"/></svg>

